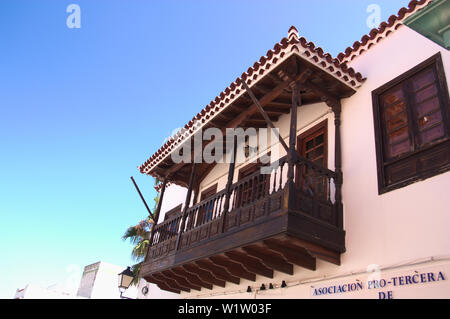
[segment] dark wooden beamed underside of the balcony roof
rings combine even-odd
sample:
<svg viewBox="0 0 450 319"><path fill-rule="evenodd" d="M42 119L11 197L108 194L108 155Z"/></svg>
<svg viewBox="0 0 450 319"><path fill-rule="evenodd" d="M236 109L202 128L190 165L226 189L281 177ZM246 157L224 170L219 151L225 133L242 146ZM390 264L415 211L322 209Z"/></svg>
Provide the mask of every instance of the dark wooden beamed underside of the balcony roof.
<svg viewBox="0 0 450 319"><path fill-rule="evenodd" d="M339 100L350 97L356 92L336 77L323 71L294 52L289 59L280 63L277 68L267 73L250 87L273 123L278 121L283 114L289 114L292 104L289 83L306 69L309 69L312 73L301 85L302 105ZM255 108L250 96L244 93L221 112L215 114L209 122L202 126L202 130L211 127L219 129L235 127L242 127L244 129L250 127L265 128L267 127L267 123L261 113ZM224 146L225 143L224 137ZM203 148L205 145L204 142ZM197 165L197 183L203 180L214 165L215 163L200 163ZM175 164L171 156L168 155L147 174L158 177L159 179L170 175L169 180L171 183L187 187L190 176L190 165Z"/></svg>

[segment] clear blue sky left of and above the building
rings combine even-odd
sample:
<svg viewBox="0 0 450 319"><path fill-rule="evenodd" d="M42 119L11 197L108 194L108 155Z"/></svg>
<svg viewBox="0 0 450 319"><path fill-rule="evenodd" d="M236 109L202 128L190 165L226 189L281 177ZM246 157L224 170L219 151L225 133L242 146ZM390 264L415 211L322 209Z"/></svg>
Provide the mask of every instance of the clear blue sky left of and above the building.
<svg viewBox="0 0 450 319"><path fill-rule="evenodd" d="M336 56L408 0L2 0L0 298L65 283L147 213L143 163L291 25ZM81 28L69 29L69 4ZM153 205L150 205L153 206Z"/></svg>

